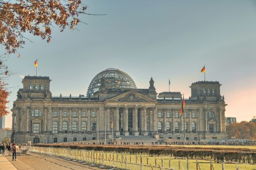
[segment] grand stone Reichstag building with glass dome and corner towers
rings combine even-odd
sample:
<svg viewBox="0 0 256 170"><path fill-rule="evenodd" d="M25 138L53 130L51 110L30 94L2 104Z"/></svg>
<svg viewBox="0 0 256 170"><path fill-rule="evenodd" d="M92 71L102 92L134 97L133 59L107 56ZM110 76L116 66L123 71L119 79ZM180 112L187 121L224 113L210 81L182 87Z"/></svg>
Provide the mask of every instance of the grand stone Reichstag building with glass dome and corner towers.
<svg viewBox="0 0 256 170"><path fill-rule="evenodd" d="M225 139L225 102L217 81L192 83L179 111L181 92L147 89L119 69L107 69L91 81L86 96L52 96L50 78L25 76L12 108L12 140L19 143L73 142L143 135L187 140ZM184 122L185 120L185 122ZM113 122L113 123L112 123ZM113 126L112 126L113 124ZM184 125L185 124L185 125Z"/></svg>

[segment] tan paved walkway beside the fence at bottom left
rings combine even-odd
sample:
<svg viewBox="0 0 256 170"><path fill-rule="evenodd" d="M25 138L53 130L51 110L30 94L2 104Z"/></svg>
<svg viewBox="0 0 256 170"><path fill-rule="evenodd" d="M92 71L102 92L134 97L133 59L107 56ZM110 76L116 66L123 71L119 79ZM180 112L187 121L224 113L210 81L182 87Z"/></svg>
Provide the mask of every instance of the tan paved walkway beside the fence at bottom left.
<svg viewBox="0 0 256 170"><path fill-rule="evenodd" d="M3 161L1 161L3 160ZM12 156L0 157L0 170L101 170L89 165L67 161L57 157L39 154L18 156L12 161Z"/></svg>

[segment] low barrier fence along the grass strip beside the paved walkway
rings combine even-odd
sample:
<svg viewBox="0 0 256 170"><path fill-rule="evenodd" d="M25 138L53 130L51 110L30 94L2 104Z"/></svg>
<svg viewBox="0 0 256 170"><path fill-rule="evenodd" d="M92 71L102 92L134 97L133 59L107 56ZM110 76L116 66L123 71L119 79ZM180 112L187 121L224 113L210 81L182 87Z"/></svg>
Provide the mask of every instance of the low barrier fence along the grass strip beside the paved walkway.
<svg viewBox="0 0 256 170"><path fill-rule="evenodd" d="M238 163L225 163L211 159L35 146L30 147L30 152L113 170L225 170L225 166L226 170L239 170Z"/></svg>

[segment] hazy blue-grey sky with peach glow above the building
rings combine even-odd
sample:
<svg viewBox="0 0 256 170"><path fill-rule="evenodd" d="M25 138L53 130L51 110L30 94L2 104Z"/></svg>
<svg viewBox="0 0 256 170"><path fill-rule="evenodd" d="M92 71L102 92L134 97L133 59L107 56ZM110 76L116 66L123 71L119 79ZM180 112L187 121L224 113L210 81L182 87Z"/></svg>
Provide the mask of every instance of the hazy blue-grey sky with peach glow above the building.
<svg viewBox="0 0 256 170"><path fill-rule="evenodd" d="M86 95L94 76L118 68L128 73L137 88L148 88L153 77L156 91L182 92L189 98L193 82L219 81L225 96L226 116L249 121L256 112L256 1L254 0L82 0L88 13L77 30L52 40L26 34L29 41L7 58L9 109L22 88L22 77L49 76L53 96ZM11 113L6 127L11 127Z"/></svg>

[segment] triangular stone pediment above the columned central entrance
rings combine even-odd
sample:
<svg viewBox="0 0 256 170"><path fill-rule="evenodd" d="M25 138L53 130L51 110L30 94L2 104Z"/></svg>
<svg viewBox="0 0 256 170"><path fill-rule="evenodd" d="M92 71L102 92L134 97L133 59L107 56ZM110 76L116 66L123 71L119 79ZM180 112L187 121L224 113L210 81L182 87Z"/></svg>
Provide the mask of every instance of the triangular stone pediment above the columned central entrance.
<svg viewBox="0 0 256 170"><path fill-rule="evenodd" d="M107 100L108 102L156 102L152 98L148 98L147 96L144 96L138 92L135 91L129 91L125 92L121 95L115 96L114 98L110 98Z"/></svg>

